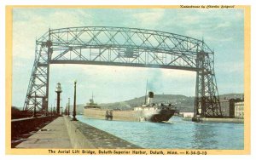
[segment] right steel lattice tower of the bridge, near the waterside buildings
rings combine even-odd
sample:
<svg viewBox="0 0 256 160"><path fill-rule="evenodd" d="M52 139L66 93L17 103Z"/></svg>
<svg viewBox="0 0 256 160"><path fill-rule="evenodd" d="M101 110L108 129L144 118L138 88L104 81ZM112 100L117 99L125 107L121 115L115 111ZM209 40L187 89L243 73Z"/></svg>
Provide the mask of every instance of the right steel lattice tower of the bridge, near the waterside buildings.
<svg viewBox="0 0 256 160"><path fill-rule="evenodd" d="M213 65L209 54L198 52L194 117L222 117Z"/></svg>

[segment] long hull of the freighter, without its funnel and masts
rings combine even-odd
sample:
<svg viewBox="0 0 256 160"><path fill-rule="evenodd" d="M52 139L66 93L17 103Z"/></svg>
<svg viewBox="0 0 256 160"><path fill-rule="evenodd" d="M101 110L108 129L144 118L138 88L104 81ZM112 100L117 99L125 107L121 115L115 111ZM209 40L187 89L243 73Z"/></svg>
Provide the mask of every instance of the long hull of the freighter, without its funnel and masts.
<svg viewBox="0 0 256 160"><path fill-rule="evenodd" d="M149 107L140 108L135 111L113 111L111 117L108 117L108 115L106 115L106 110L99 108L84 108L85 117L131 122L164 122L168 121L174 113L175 110L173 109L157 109Z"/></svg>

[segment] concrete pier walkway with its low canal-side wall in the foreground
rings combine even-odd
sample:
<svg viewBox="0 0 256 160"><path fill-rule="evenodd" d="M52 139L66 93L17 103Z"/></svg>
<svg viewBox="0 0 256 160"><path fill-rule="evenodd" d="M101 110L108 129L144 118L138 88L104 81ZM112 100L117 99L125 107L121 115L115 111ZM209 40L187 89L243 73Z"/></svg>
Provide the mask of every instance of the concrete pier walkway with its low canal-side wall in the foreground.
<svg viewBox="0 0 256 160"><path fill-rule="evenodd" d="M88 124L72 121L71 117L57 117L16 148L137 149L141 147Z"/></svg>

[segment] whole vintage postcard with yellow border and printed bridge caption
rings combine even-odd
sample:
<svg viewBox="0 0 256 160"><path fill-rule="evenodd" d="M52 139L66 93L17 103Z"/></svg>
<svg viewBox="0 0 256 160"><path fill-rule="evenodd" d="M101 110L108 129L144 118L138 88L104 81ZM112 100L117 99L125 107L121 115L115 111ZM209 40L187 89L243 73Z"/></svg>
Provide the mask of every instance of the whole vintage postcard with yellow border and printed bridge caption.
<svg viewBox="0 0 256 160"><path fill-rule="evenodd" d="M250 154L250 9L6 6L6 154Z"/></svg>

